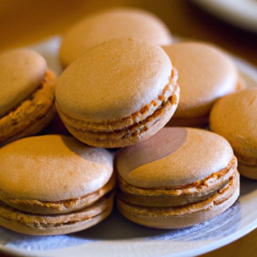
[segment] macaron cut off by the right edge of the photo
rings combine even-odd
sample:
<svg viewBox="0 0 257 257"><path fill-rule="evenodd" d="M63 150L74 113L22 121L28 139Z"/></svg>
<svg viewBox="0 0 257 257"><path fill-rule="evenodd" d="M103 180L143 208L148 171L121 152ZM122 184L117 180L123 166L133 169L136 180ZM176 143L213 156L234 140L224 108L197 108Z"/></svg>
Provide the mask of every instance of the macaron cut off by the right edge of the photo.
<svg viewBox="0 0 257 257"><path fill-rule="evenodd" d="M210 130L223 136L238 159L238 171L257 179L257 88L220 98L210 114Z"/></svg>

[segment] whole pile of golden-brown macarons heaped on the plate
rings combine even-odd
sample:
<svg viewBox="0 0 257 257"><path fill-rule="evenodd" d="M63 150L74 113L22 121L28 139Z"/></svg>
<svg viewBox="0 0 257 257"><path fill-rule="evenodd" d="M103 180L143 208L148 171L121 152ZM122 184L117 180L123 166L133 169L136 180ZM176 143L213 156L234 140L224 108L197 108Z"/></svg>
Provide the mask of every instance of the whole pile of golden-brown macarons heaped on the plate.
<svg viewBox="0 0 257 257"><path fill-rule="evenodd" d="M257 88L223 50L119 8L71 27L60 61L57 78L34 51L0 53L0 225L76 232L116 199L132 222L183 228L233 205L239 173L257 179Z"/></svg>

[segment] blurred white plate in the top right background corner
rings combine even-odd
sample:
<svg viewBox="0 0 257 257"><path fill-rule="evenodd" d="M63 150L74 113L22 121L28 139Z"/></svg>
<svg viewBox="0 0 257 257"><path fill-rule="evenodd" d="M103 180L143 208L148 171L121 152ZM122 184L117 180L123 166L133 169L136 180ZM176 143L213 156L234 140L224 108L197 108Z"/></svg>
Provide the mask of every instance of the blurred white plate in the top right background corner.
<svg viewBox="0 0 257 257"><path fill-rule="evenodd" d="M226 22L257 32L256 0L193 0L193 2Z"/></svg>

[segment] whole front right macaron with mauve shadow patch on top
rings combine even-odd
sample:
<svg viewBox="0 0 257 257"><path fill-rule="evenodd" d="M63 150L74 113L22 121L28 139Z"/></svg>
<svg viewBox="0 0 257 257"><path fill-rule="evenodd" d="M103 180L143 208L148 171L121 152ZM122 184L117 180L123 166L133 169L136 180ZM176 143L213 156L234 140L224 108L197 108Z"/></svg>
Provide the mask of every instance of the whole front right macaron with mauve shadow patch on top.
<svg viewBox="0 0 257 257"><path fill-rule="evenodd" d="M116 156L117 207L155 228L191 226L225 211L239 195L237 160L214 133L165 127Z"/></svg>

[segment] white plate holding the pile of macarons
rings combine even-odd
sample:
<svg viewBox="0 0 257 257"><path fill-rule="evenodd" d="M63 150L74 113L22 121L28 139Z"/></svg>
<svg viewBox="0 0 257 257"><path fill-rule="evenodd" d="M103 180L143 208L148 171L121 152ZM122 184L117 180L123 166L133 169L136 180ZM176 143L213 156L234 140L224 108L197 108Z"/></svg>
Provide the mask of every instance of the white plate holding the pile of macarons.
<svg viewBox="0 0 257 257"><path fill-rule="evenodd" d="M33 48L58 73L59 38ZM235 59L248 86L257 85L257 70ZM185 229L161 230L137 225L116 209L100 224L69 235L30 236L0 227L0 249L22 256L195 256L219 248L257 227L257 181L241 178L238 201L224 213Z"/></svg>

